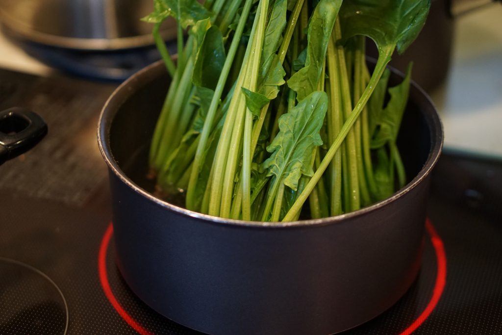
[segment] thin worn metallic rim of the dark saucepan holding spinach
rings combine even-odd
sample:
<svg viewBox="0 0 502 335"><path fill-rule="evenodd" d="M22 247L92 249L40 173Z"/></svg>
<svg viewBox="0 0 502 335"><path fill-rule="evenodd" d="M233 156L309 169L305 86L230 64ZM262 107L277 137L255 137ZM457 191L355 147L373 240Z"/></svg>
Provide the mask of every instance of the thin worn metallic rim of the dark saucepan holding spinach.
<svg viewBox="0 0 502 335"><path fill-rule="evenodd" d="M306 227L320 227L323 225L340 224L348 219L354 219L358 216L363 216L372 211L378 210L399 198L405 196L408 192L413 190L419 184L421 184L430 174L432 168L436 165L441 150L443 147L443 126L437 114L436 107L432 102L428 94L413 80L411 82L412 90L418 90L420 95L423 95L425 102L429 103L433 107L433 113L425 115L427 126L431 131L431 148L429 151L429 156L420 170L420 172L410 181L405 187L394 193L391 197L376 202L367 207L358 209L356 211L345 213L337 216L324 217L319 219L308 219L308 220L298 220L298 221L288 221L288 222L262 222L262 221L245 221L236 219L227 219L216 217L212 215L202 214L196 211L192 211L180 206L173 205L167 201L157 198L150 192L147 192L140 186L138 186L133 180L131 180L118 166L117 162L114 160L110 149L109 143L109 130L111 128L115 114L120 109L120 106L126 102L129 97L134 94L138 89L144 87L146 84L151 82L153 79L158 77L160 73L160 68L164 68L163 61L160 60L155 62L144 69L138 71L136 74L131 76L128 80L124 81L120 86L118 86L115 91L108 98L104 104L101 115L98 122L98 144L99 150L103 155L108 168L126 185L132 188L135 192L139 193L145 199L152 201L153 203L178 214L187 215L192 218L198 219L200 222L205 224L217 224L226 225L227 227L235 228L256 228L256 229L284 229L284 228L306 228ZM391 71L401 77L403 73L391 68ZM411 93L411 92L410 92ZM411 96L412 94L410 94ZM351 221L351 220L350 220Z"/></svg>

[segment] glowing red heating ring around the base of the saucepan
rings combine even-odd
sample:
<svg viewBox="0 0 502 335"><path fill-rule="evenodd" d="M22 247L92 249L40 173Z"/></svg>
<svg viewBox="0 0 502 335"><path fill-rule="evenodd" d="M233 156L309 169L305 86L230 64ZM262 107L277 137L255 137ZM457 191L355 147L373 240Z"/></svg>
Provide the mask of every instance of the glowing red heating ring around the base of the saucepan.
<svg viewBox="0 0 502 335"><path fill-rule="evenodd" d="M431 300L423 310L422 314L413 321L413 323L408 326L399 335L410 335L414 332L424 321L431 315L434 308L443 294L444 286L446 284L446 254L444 252L443 241L437 234L434 226L432 226L431 221L427 219L425 222L425 228L431 236L432 245L434 246L434 251L436 253L437 260L437 274L436 283L434 285L434 291L432 293ZM113 235L113 227L110 224L104 233L103 240L101 241L101 246L99 247L98 255L98 272L99 280L101 282L101 287L103 288L104 295L117 311L117 313L126 321L131 327L133 327L137 332L142 335L154 335L149 330L145 329L140 323L138 323L117 301L113 292L110 288L110 283L108 282L108 274L106 272L106 251L108 250L108 244L110 242L111 236Z"/></svg>

